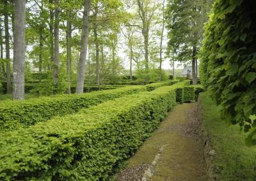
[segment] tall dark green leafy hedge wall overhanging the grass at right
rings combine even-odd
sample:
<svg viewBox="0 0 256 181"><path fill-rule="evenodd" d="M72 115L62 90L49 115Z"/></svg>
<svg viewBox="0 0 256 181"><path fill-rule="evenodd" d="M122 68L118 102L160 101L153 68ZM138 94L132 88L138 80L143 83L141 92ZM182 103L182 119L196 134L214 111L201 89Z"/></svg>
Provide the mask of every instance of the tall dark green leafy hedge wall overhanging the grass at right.
<svg viewBox="0 0 256 181"><path fill-rule="evenodd" d="M256 131L256 11L254 0L216 1L205 25L200 76L223 117ZM254 115L254 116L253 116Z"/></svg>

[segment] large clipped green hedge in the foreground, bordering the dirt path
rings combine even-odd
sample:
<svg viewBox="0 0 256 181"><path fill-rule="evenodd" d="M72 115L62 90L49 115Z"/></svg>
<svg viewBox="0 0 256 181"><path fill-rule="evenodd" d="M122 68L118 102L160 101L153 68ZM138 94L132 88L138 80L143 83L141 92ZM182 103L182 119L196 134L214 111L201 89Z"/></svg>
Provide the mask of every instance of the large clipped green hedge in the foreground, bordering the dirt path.
<svg viewBox="0 0 256 181"><path fill-rule="evenodd" d="M167 111L175 89L140 92L56 117L0 140L0 180L104 180Z"/></svg>

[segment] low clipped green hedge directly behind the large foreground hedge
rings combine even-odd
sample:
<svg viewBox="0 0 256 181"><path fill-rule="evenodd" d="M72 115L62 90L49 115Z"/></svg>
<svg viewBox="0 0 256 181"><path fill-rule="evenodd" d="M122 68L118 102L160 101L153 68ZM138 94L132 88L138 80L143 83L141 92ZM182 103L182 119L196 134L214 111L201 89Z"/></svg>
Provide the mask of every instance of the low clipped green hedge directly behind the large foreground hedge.
<svg viewBox="0 0 256 181"><path fill-rule="evenodd" d="M64 94L24 101L1 101L0 132L28 127L56 115L76 113L81 108L98 105L110 99L120 98L136 92L146 91L144 86L129 86L109 91L97 91L86 94Z"/></svg>

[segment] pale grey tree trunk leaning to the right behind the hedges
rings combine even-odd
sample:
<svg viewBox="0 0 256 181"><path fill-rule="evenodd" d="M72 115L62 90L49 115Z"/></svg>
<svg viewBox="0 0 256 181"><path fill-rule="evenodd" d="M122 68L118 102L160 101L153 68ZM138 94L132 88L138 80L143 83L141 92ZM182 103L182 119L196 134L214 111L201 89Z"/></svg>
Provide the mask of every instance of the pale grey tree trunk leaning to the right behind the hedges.
<svg viewBox="0 0 256 181"><path fill-rule="evenodd" d="M83 27L81 34L81 52L78 62L77 71L77 94L81 94L84 91L84 72L85 72L85 61L88 48L88 34L89 34L89 15L90 15L90 0L84 0L84 13L83 13Z"/></svg>

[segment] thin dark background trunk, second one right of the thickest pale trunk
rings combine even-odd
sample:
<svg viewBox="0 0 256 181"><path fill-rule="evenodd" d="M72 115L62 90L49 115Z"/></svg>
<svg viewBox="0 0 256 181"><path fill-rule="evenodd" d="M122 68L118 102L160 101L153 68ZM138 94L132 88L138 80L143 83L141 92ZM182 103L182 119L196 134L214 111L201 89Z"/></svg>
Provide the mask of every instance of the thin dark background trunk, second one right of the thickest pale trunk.
<svg viewBox="0 0 256 181"><path fill-rule="evenodd" d="M50 4L53 4L53 0L49 0ZM54 32L53 32L53 26L54 26L54 11L50 10L50 52L51 52L51 62L48 69L52 69L53 62L54 62Z"/></svg>

